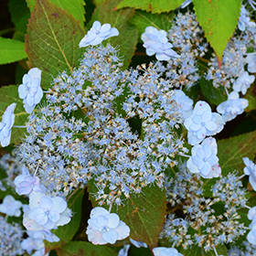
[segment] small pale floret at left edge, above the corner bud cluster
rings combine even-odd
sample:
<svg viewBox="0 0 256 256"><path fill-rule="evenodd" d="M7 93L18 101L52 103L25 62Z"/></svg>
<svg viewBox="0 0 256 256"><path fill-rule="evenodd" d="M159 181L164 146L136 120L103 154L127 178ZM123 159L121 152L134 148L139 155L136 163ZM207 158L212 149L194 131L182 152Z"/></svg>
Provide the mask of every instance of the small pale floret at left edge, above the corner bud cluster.
<svg viewBox="0 0 256 256"><path fill-rule="evenodd" d="M7 216L19 217L21 214L21 207L22 203L20 201L10 195L7 195L5 196L3 203L0 205L0 212L5 213Z"/></svg>

